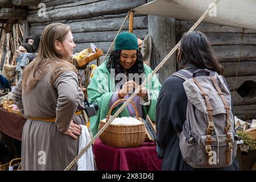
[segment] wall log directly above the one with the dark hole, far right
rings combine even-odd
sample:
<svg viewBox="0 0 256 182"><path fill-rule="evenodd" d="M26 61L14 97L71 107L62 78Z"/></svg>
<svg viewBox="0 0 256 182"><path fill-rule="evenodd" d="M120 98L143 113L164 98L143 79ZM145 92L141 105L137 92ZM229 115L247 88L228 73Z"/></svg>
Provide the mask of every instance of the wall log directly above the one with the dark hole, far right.
<svg viewBox="0 0 256 182"><path fill-rule="evenodd" d="M224 67L224 76L236 76L238 61L221 62ZM241 61L238 68L238 76L256 75L256 61Z"/></svg>

